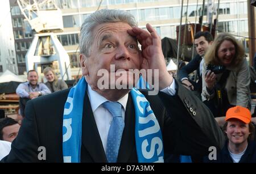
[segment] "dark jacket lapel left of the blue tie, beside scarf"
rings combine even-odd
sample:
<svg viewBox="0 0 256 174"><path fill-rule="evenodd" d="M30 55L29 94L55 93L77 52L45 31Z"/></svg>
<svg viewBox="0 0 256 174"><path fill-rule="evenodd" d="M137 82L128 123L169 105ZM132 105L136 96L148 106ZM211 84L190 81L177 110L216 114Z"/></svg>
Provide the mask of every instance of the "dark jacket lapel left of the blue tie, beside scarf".
<svg viewBox="0 0 256 174"><path fill-rule="evenodd" d="M84 111L82 113L82 144L88 150L94 162L107 162L87 93L85 93Z"/></svg>

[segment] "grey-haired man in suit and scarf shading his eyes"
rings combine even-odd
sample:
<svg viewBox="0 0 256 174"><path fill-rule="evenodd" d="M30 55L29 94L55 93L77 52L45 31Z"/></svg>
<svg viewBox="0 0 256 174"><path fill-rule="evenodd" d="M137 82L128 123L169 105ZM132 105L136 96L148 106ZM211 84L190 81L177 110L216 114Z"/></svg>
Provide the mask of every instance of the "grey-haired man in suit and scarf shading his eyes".
<svg viewBox="0 0 256 174"><path fill-rule="evenodd" d="M89 15L80 33L84 77L75 87L28 102L3 161L163 162L166 154L221 148L224 135L209 109L168 74L160 37L146 27L138 28L122 10ZM156 71L158 95L130 87L136 83L131 69ZM38 158L42 150L46 156Z"/></svg>

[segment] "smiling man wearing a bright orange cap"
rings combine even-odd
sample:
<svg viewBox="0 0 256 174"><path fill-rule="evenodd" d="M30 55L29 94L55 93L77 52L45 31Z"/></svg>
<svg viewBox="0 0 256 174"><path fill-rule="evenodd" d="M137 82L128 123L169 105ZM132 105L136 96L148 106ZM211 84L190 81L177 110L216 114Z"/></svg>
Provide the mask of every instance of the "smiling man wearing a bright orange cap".
<svg viewBox="0 0 256 174"><path fill-rule="evenodd" d="M256 146L254 125L249 109L236 106L226 112L223 130L228 137L225 146L217 154L217 163L255 163ZM207 160L209 162L209 159Z"/></svg>

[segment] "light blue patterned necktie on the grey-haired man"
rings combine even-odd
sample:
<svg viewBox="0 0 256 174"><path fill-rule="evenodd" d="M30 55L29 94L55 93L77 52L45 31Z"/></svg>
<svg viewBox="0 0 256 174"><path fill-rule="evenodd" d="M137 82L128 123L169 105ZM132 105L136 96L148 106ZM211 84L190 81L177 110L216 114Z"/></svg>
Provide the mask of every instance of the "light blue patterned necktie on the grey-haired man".
<svg viewBox="0 0 256 174"><path fill-rule="evenodd" d="M125 122L122 117L122 105L118 102L106 101L102 106L112 114L113 121L109 128L108 141L106 147L106 158L109 163L116 163L119 146L122 139Z"/></svg>

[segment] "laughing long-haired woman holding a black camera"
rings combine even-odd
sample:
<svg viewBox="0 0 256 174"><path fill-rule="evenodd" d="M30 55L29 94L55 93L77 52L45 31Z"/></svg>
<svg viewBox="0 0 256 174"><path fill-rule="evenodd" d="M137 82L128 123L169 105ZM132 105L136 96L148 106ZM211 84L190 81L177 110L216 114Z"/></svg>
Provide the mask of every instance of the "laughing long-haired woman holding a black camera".
<svg viewBox="0 0 256 174"><path fill-rule="evenodd" d="M226 111L235 106L249 108L250 73L243 46L229 33L220 33L205 54L202 100L219 125Z"/></svg>

